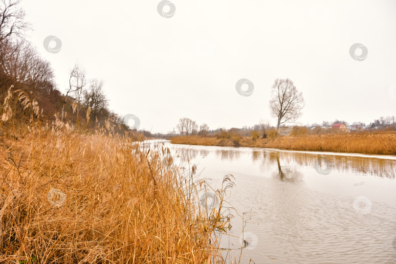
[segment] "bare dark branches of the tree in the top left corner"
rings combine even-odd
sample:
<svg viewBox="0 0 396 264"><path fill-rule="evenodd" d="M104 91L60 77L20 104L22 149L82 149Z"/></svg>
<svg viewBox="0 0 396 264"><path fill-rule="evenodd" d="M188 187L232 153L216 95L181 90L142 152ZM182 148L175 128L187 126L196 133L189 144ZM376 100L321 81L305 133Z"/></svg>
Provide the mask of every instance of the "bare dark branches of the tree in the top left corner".
<svg viewBox="0 0 396 264"><path fill-rule="evenodd" d="M30 24L24 22L25 12L19 7L20 0L0 0L0 43L17 36L24 37Z"/></svg>

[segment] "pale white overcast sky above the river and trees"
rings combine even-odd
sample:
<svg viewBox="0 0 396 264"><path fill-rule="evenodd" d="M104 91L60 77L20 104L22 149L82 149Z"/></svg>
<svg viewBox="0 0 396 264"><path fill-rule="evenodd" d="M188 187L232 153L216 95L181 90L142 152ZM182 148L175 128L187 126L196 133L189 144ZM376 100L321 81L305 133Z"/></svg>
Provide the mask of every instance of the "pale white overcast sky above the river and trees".
<svg viewBox="0 0 396 264"><path fill-rule="evenodd" d="M105 81L110 109L138 116L140 129L168 132L180 117L210 129L261 118L276 125L268 108L276 78L303 92L301 124L396 115L396 0L172 0L170 18L158 13L159 2L24 0L22 7L59 89L79 63ZM62 41L58 53L44 49L49 35ZM367 48L365 59L351 57L355 43ZM242 78L254 84L250 96L236 90Z"/></svg>

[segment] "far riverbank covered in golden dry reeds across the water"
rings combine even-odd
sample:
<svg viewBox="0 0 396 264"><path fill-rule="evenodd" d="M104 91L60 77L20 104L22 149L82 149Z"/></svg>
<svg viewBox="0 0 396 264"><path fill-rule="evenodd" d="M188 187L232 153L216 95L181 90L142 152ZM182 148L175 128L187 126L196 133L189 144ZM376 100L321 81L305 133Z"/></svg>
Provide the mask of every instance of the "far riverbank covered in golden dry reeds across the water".
<svg viewBox="0 0 396 264"><path fill-rule="evenodd" d="M359 154L396 155L395 132L329 133L275 138L176 136L173 144L276 148L299 151L328 151Z"/></svg>

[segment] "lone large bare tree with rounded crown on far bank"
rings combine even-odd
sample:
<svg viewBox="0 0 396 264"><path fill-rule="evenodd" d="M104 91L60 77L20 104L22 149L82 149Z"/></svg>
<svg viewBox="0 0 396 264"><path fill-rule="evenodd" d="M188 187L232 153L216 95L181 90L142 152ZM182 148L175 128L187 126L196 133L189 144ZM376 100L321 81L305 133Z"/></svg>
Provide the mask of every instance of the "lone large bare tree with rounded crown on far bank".
<svg viewBox="0 0 396 264"><path fill-rule="evenodd" d="M293 123L302 116L304 98L290 79L276 79L271 93L269 109L271 115L278 118L277 130L280 125Z"/></svg>

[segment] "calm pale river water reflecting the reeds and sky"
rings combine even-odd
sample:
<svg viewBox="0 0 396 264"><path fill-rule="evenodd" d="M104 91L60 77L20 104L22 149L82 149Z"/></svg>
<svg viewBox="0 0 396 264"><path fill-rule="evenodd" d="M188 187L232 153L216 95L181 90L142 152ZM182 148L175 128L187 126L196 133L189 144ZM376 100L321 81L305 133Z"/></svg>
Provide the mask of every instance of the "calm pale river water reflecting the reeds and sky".
<svg viewBox="0 0 396 264"><path fill-rule="evenodd" d="M165 145L214 188L234 176L229 263L396 263L395 156Z"/></svg>

